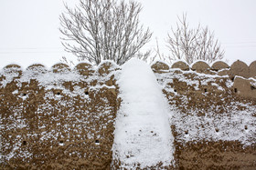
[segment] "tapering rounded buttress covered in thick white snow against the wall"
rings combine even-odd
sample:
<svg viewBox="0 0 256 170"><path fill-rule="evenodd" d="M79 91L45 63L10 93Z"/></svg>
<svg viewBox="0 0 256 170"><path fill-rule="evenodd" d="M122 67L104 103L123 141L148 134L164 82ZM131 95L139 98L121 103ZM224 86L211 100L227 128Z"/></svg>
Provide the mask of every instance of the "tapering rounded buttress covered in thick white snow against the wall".
<svg viewBox="0 0 256 170"><path fill-rule="evenodd" d="M118 112L113 158L123 167L141 168L173 161L168 104L150 66L132 59L123 65L118 85L123 99Z"/></svg>

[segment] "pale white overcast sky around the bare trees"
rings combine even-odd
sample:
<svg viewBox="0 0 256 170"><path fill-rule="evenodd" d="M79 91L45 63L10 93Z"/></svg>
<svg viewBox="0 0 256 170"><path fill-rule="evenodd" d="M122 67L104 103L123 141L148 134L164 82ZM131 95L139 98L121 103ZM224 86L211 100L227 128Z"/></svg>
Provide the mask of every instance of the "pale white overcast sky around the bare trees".
<svg viewBox="0 0 256 170"><path fill-rule="evenodd" d="M229 65L238 59L248 65L256 60L256 0L139 1L144 7L141 23L154 32L145 48L154 48L157 37L160 50L167 55L167 33L176 26L177 15L187 13L191 26L200 23L215 32ZM51 66L69 55L59 40L63 10L62 0L0 0L0 67L10 63Z"/></svg>

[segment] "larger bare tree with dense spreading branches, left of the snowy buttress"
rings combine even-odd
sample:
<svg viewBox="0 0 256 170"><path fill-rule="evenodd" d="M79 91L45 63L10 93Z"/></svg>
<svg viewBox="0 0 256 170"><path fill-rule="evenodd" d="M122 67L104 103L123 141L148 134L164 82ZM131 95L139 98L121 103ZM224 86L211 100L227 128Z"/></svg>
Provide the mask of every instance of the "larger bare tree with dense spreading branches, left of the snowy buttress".
<svg viewBox="0 0 256 170"><path fill-rule="evenodd" d="M80 5L60 15L59 28L65 50L79 60L99 65L101 60L113 60L118 65L132 57L145 57L141 48L152 33L139 23L142 6L123 0L80 0Z"/></svg>

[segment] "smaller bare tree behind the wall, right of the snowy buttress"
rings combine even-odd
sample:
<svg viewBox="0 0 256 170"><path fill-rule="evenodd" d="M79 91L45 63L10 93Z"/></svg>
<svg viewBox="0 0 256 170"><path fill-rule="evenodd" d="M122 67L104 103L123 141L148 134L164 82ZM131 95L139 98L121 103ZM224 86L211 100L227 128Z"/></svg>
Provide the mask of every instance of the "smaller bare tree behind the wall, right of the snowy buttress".
<svg viewBox="0 0 256 170"><path fill-rule="evenodd" d="M197 28L189 28L187 15L178 17L176 30L172 28L172 35L168 34L167 47L171 51L169 60L183 59L188 64L196 60L212 63L222 59L224 51L220 49L219 41L215 40L213 32L200 24Z"/></svg>

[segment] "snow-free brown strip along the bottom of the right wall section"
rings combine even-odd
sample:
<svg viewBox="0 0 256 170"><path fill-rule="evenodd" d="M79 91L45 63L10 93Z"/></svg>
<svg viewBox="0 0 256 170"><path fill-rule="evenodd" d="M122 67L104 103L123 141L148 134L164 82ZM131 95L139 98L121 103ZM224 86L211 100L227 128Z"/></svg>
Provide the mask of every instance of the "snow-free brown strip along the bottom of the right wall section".
<svg viewBox="0 0 256 170"><path fill-rule="evenodd" d="M176 159L179 169L255 169L256 145L244 148L236 141L176 143Z"/></svg>

